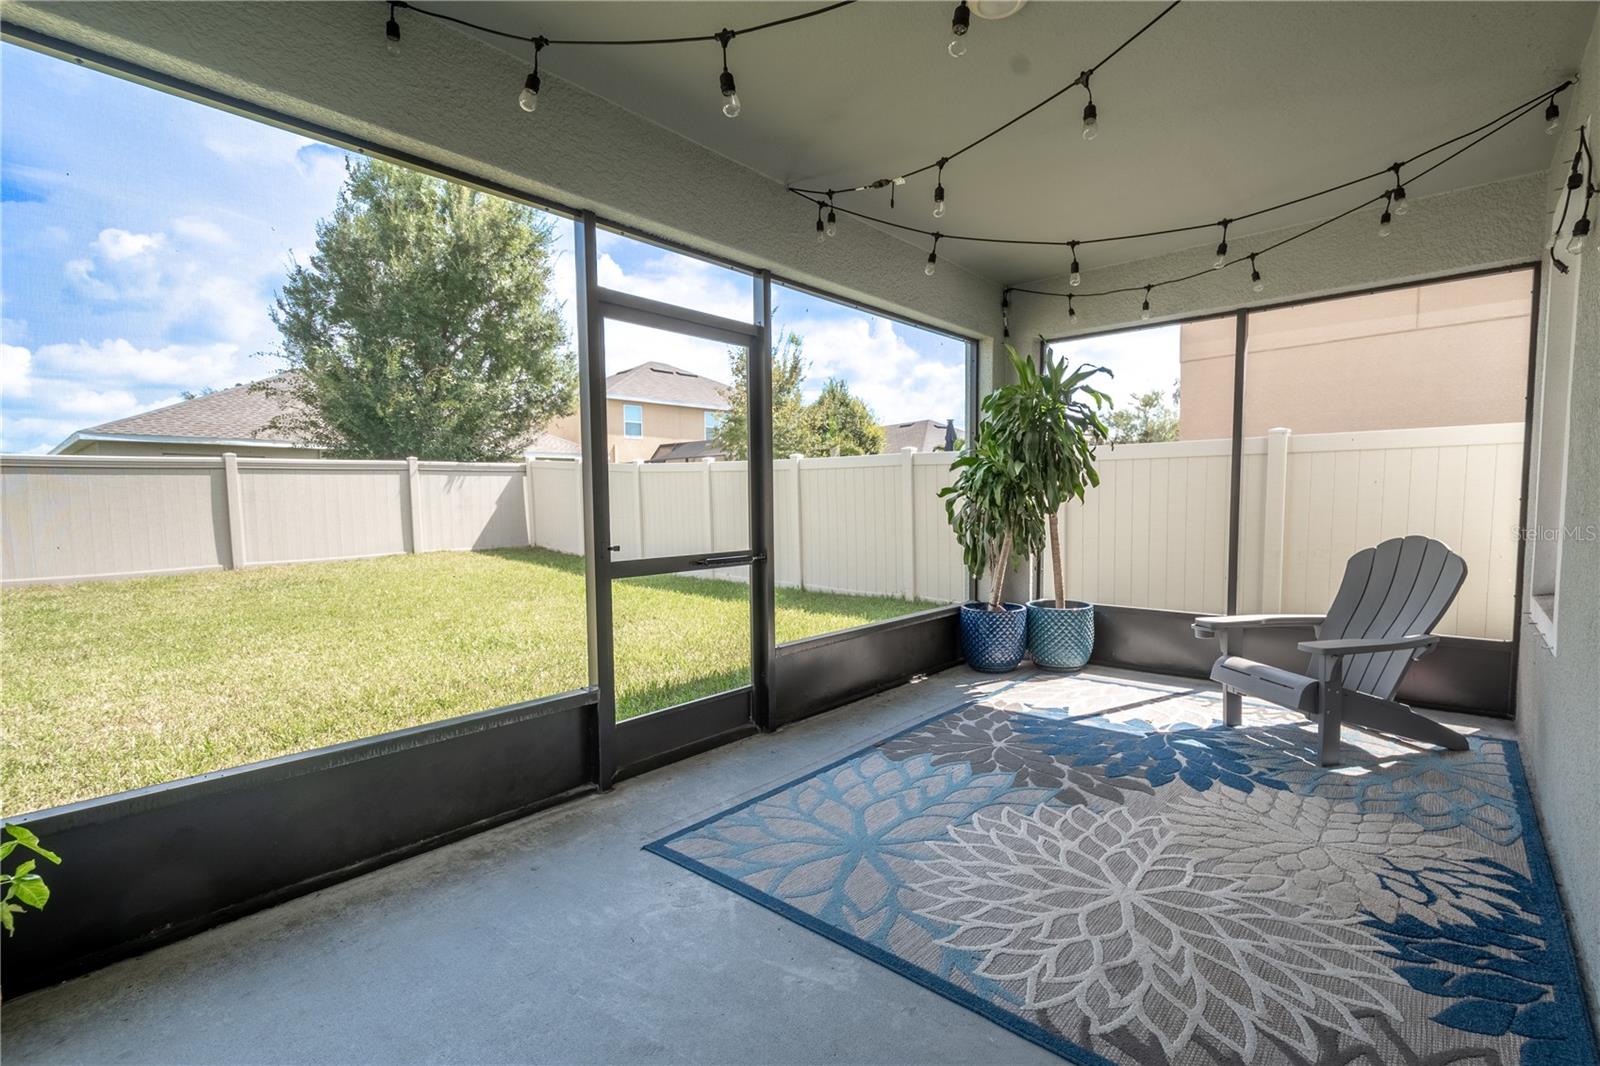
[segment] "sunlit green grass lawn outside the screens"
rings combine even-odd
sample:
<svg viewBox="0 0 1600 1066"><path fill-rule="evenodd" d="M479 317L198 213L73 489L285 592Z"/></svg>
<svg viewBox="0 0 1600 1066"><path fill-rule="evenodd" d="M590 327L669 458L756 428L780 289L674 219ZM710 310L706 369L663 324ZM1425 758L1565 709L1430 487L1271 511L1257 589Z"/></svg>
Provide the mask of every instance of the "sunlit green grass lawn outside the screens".
<svg viewBox="0 0 1600 1066"><path fill-rule="evenodd" d="M616 583L618 717L749 683L749 591ZM933 603L778 589L778 640ZM0 810L587 683L582 560L538 549L8 589Z"/></svg>

